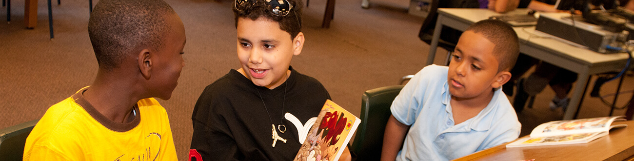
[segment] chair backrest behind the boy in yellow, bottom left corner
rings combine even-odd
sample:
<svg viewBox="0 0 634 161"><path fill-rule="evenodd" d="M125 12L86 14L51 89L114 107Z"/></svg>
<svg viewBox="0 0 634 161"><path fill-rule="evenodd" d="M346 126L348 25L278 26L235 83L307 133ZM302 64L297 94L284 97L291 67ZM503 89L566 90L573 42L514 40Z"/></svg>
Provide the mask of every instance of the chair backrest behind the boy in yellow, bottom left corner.
<svg viewBox="0 0 634 161"><path fill-rule="evenodd" d="M0 129L0 160L22 160L27 136L36 126L37 121L39 119Z"/></svg>

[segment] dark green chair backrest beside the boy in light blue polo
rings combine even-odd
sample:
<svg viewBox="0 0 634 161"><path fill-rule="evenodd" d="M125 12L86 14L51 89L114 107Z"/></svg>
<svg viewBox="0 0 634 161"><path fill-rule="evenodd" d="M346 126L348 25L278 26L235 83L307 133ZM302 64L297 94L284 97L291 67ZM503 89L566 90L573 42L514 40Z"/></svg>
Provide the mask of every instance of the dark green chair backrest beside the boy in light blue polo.
<svg viewBox="0 0 634 161"><path fill-rule="evenodd" d="M390 106L403 86L370 89L361 98L361 124L357 129L351 151L357 160L379 160L383 147L385 124L392 112Z"/></svg>

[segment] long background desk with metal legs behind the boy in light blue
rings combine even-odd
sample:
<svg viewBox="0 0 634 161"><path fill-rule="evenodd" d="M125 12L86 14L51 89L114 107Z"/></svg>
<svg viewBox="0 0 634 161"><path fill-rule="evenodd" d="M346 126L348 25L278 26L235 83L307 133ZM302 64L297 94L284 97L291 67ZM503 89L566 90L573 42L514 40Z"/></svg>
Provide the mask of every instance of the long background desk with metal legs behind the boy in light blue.
<svg viewBox="0 0 634 161"><path fill-rule="evenodd" d="M438 13L435 29L443 29L442 26L444 25L462 31L466 30L472 23L485 20L490 16L501 15L487 9L471 8L440 8ZM526 13L527 10L524 9L510 11L507 14ZM521 53L579 74L577 83L574 86L573 96L564 113L564 120L574 118L590 75L621 70L625 67L626 59L628 58L625 53L601 54L589 49L571 46L555 39L540 38L534 34L535 27L514 27L513 29L519 37ZM440 34L441 30L434 30L434 37L429 47L427 65L434 63Z"/></svg>

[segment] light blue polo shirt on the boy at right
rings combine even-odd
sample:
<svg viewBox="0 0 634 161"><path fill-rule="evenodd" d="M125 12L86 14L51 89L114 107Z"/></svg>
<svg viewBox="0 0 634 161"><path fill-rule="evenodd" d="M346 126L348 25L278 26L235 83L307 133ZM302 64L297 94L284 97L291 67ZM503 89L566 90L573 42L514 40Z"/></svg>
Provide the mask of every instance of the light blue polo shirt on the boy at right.
<svg viewBox="0 0 634 161"><path fill-rule="evenodd" d="M501 87L478 115L454 125L444 66L429 65L392 103L392 115L410 126L396 160L452 160L517 139L521 124Z"/></svg>

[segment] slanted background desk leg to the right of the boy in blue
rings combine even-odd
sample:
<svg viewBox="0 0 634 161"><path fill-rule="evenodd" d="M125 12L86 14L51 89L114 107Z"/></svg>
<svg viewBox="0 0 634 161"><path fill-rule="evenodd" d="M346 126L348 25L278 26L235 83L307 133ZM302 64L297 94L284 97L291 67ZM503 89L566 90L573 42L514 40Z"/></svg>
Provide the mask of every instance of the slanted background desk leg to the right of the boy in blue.
<svg viewBox="0 0 634 161"><path fill-rule="evenodd" d="M588 78L590 77L590 75L588 75L588 70L581 70L584 72L580 72L578 75L578 79L577 79L577 83L574 85L574 91L573 91L573 97L570 100L570 103L568 103L568 107L566 109L566 112L564 113L564 120L571 120L574 119L574 114L577 113L578 110L578 105L581 102L581 96L583 96L583 94L585 94L583 91L586 87L586 84L588 84Z"/></svg>

